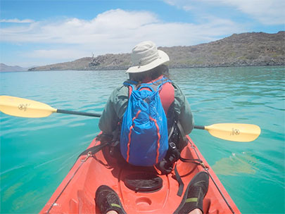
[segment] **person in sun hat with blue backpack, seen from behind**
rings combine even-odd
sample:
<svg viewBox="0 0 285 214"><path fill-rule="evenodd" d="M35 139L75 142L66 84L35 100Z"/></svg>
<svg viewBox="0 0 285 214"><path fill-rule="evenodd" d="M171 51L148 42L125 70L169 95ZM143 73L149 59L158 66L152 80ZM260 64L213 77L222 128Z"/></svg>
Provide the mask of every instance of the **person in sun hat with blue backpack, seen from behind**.
<svg viewBox="0 0 285 214"><path fill-rule="evenodd" d="M160 170L169 173L169 170L165 168L163 161L161 161L165 158L166 150L171 146L177 146L177 149L181 151L185 144L183 142L182 144L178 144L177 141L179 139L167 139L167 136L174 136L173 131L178 129L182 133L182 137L190 134L194 128L194 118L191 108L182 90L175 82L169 79L168 68L164 64L170 61L167 53L158 50L156 44L153 42L146 41L134 46L131 58L133 66L127 70L129 80L113 90L99 120L99 128L103 132L103 136L120 139L120 151L125 160L129 160L129 163L143 166L145 163L148 165L157 165ZM158 94L159 96L156 96ZM151 100L148 99L150 97ZM146 102L146 100L148 101ZM162 107L159 106L160 103ZM146 108L156 110L150 111L151 113L148 115L147 112L144 112ZM140 113L137 115L138 112ZM132 124L132 119L136 117L138 117L137 120L134 120L134 124ZM141 129L144 129L143 132L148 134L141 134ZM154 133L157 130L159 130L159 133ZM129 133L131 133L132 139L129 139ZM133 136L136 133L138 135ZM150 137L149 133L154 133L156 136ZM148 146L151 147L153 145L155 147L157 145L154 144L158 141L159 135L159 154L156 151L151 151L152 153L146 151L146 153L143 153L142 149L144 148L142 146L146 146L146 138L151 138L149 139ZM144 139L144 142L141 142L142 145L136 148L139 145L138 141L141 139ZM130 151L128 151L130 148L129 141L132 145ZM168 141L174 141L177 145L172 144L169 146ZM148 148L145 149L148 150ZM134 155L132 156L132 154ZM141 159L136 160L132 158L140 155ZM173 154L171 155L174 156ZM127 159L128 156L129 159ZM150 160L151 158L156 160ZM171 159L171 157L169 158ZM156 162L162 163L153 164Z"/></svg>

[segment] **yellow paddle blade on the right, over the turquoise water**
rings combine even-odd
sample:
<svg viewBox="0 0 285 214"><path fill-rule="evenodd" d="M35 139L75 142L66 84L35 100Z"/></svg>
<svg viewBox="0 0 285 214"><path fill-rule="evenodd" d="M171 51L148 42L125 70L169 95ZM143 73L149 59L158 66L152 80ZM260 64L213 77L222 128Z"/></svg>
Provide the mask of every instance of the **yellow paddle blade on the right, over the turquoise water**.
<svg viewBox="0 0 285 214"><path fill-rule="evenodd" d="M239 142L253 141L261 132L258 125L242 123L219 123L205 126L205 130L214 137Z"/></svg>

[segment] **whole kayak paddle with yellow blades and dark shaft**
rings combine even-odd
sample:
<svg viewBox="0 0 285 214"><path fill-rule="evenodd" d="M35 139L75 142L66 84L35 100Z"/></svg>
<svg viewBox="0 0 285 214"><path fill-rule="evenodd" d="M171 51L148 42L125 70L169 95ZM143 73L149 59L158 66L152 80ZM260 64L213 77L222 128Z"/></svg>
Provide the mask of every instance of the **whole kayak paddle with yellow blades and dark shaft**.
<svg viewBox="0 0 285 214"><path fill-rule="evenodd" d="M100 118L99 113L84 113L80 111L67 111L52 108L38 101L23 99L15 96L0 96L0 111L7 115L23 118L44 118L51 113L65 113L71 115L84 115ZM209 126L194 126L195 129L207 130L214 137L229 141L248 142L253 141L260 135L258 125L241 123L219 123Z"/></svg>

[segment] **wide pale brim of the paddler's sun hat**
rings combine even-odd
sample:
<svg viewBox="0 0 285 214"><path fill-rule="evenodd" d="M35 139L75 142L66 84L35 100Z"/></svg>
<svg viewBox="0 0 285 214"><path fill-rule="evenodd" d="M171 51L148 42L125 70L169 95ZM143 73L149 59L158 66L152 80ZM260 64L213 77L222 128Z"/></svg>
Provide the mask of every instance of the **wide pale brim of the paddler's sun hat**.
<svg viewBox="0 0 285 214"><path fill-rule="evenodd" d="M126 71L126 73L141 73L141 72L156 68L158 67L158 65L161 65L163 63L170 61L169 56L164 51L158 50L158 55L159 55L159 58L157 58L155 61L152 61L151 63L148 63L147 65L132 66Z"/></svg>

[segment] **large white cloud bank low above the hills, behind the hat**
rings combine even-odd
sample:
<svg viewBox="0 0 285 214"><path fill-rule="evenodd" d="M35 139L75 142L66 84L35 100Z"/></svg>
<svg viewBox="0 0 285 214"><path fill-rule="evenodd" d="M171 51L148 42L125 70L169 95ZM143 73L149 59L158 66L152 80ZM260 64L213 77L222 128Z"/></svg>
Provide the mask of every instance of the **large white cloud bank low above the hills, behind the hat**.
<svg viewBox="0 0 285 214"><path fill-rule="evenodd" d="M129 53L135 44L144 40L152 40L158 46L185 46L246 31L231 20L215 17L203 20L206 21L201 24L165 23L153 13L118 9L101 13L92 20L68 18L2 26L0 41L42 46L22 56L58 62L91 56L91 53L95 56Z"/></svg>

